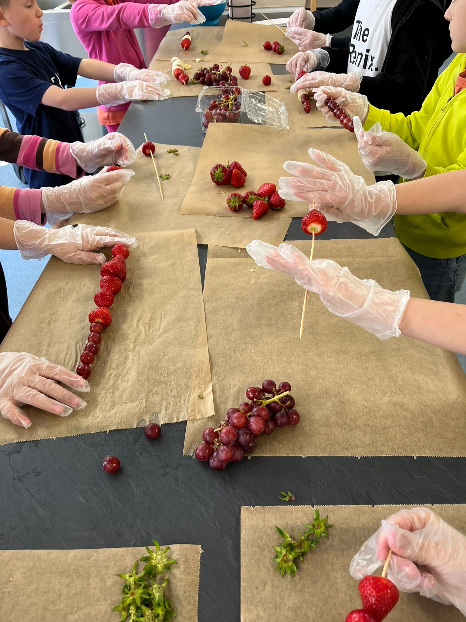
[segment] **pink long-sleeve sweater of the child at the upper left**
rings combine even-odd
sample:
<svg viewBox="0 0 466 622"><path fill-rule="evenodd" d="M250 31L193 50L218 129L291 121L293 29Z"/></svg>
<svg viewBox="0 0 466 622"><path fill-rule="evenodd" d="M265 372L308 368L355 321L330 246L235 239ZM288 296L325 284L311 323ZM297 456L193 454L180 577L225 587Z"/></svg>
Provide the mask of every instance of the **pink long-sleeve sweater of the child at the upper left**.
<svg viewBox="0 0 466 622"><path fill-rule="evenodd" d="M176 1L176 0L175 0ZM165 0L163 4L173 4ZM147 28L149 14L147 0L76 0L71 7L71 24L89 58L107 63L130 63L138 69L145 68L144 57L134 34L134 28ZM152 2L161 4L161 2ZM169 26L157 29L162 40ZM104 84L104 82L99 82ZM97 116L101 125L121 123L129 103L118 106L99 106Z"/></svg>

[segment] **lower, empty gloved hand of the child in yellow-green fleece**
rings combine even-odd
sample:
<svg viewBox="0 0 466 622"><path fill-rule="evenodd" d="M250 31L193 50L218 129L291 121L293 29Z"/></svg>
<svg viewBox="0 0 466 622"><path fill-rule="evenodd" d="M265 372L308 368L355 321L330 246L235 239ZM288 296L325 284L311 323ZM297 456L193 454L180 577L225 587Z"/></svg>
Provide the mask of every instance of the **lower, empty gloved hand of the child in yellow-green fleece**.
<svg viewBox="0 0 466 622"><path fill-rule="evenodd" d="M404 179L417 179L426 172L426 161L411 149L400 136L385 132L376 123L367 132L360 119L353 118L354 133L358 139L358 151L368 170L379 170Z"/></svg>

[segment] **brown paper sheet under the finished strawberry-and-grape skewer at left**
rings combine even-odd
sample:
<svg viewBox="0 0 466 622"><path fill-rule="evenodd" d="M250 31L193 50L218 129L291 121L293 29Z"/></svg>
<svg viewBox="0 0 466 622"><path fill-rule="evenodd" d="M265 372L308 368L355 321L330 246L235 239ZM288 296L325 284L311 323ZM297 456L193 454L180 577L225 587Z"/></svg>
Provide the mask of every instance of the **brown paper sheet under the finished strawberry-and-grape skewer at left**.
<svg viewBox="0 0 466 622"><path fill-rule="evenodd" d="M88 406L68 417L25 407L25 430L0 418L0 444L173 423L214 412L196 233L137 234L127 279L111 307L89 376ZM109 255L109 250L107 250ZM2 351L30 352L76 369L96 307L99 266L52 258ZM40 320L38 319L40 318ZM199 394L203 399L199 399Z"/></svg>

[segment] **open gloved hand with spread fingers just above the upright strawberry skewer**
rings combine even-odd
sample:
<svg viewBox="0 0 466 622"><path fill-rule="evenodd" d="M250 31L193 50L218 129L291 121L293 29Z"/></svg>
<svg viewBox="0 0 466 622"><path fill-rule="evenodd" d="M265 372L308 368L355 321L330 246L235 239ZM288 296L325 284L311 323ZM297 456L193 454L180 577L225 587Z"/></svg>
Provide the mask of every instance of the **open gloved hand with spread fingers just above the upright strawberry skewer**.
<svg viewBox="0 0 466 622"><path fill-rule="evenodd" d="M280 197L315 202L327 220L349 221L377 236L396 212L395 185L386 181L367 186L362 177L329 154L311 148L309 156L317 166L291 160L283 164L296 177L280 177Z"/></svg>

